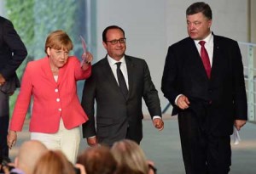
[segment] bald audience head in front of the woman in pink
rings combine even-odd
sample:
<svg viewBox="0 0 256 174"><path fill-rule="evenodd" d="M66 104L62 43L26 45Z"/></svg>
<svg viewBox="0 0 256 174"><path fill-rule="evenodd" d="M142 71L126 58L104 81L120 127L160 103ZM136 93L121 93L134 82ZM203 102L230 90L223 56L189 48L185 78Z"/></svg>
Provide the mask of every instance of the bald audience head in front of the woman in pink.
<svg viewBox="0 0 256 174"><path fill-rule="evenodd" d="M45 152L47 152L46 146L38 140L30 140L22 143L18 155L15 158L15 167L24 171L26 174L32 174L36 162Z"/></svg>

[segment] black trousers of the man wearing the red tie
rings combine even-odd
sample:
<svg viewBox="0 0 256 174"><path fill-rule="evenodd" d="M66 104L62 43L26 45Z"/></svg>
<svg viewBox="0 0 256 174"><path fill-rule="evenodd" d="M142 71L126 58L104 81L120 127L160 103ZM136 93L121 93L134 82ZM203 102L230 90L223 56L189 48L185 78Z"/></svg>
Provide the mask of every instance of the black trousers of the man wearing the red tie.
<svg viewBox="0 0 256 174"><path fill-rule="evenodd" d="M230 136L213 136L202 128L194 112L178 115L183 162L186 174L227 174L231 165ZM203 121L207 126L207 118Z"/></svg>

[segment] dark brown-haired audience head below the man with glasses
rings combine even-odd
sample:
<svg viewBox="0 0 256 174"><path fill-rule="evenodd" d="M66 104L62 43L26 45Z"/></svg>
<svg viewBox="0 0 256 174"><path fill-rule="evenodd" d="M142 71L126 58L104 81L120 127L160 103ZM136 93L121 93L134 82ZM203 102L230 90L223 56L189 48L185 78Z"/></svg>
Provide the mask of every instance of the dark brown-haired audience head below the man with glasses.
<svg viewBox="0 0 256 174"><path fill-rule="evenodd" d="M94 146L85 149L79 155L77 163L85 167L86 174L113 174L117 167L113 154L105 146Z"/></svg>

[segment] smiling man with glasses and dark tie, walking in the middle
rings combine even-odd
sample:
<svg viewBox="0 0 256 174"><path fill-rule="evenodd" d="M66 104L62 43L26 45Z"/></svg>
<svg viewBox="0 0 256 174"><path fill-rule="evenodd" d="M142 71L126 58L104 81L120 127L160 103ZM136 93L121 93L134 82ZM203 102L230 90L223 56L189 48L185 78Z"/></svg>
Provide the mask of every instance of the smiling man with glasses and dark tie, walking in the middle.
<svg viewBox="0 0 256 174"><path fill-rule="evenodd" d="M119 26L108 26L102 33L102 40L108 54L93 65L92 75L84 84L82 106L89 117L83 125L84 138L89 145L112 146L124 138L140 143L143 138L142 98L154 126L159 130L164 128L160 99L148 65L143 59L125 55L125 31Z"/></svg>

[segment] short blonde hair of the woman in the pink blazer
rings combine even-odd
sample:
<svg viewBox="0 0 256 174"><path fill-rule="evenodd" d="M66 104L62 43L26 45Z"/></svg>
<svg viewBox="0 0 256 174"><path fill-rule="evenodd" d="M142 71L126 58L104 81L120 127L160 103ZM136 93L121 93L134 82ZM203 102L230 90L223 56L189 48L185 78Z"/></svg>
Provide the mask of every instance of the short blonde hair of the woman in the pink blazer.
<svg viewBox="0 0 256 174"><path fill-rule="evenodd" d="M73 49L73 42L65 31L53 31L47 36L44 52L47 53L47 48L63 49L68 52Z"/></svg>

